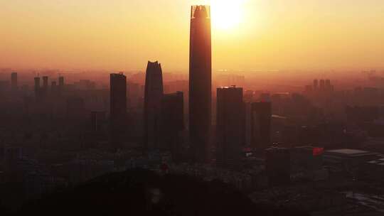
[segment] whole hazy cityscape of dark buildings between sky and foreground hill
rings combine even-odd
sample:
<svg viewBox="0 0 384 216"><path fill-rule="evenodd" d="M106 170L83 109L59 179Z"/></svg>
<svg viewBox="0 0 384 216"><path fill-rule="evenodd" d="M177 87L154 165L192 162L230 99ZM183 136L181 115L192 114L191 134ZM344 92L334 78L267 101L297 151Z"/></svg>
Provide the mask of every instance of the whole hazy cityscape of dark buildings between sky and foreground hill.
<svg viewBox="0 0 384 216"><path fill-rule="evenodd" d="M231 84L245 85L245 77L221 75L217 83L225 86L213 90L206 6L192 7L190 33L188 81L164 82L166 74L157 61L147 63L143 77L111 73L109 88L101 89L90 80L66 84L63 75L49 83L44 75L34 77L28 91L18 86L12 72L8 90L22 102L0 107L0 117L9 122L0 129L1 185L20 183L22 197L28 199L104 173L169 168L219 179L247 193L277 188L272 195L257 195L280 196L289 200L277 200L279 205L301 203L299 207L313 210L316 205L343 205L343 195L311 190L299 197L299 189L281 188L336 178L383 178L384 156L350 149L368 135L380 134L377 126L384 125L380 100L369 106L356 102L379 97L375 88L340 93L331 80L314 80L302 94L271 94ZM144 85L136 82L141 79ZM5 86L0 82L0 95ZM338 100L346 95L357 99ZM345 116L347 123L335 116Z"/></svg>

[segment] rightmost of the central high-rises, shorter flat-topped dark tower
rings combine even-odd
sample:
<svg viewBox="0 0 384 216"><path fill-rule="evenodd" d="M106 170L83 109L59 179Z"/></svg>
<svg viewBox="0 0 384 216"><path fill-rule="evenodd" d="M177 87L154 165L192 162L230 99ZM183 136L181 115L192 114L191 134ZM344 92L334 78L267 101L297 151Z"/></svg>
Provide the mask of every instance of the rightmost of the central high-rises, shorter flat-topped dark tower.
<svg viewBox="0 0 384 216"><path fill-rule="evenodd" d="M256 102L251 106L251 146L264 150L271 142L272 104Z"/></svg>

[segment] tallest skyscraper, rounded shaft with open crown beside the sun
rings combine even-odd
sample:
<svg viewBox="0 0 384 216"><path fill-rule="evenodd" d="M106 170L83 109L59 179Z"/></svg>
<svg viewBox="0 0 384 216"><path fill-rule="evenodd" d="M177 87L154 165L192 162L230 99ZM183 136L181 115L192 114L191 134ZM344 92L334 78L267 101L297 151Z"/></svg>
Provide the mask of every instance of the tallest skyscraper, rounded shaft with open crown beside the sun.
<svg viewBox="0 0 384 216"><path fill-rule="evenodd" d="M209 6L192 6L189 50L189 135L193 160L208 159L211 126L212 53Z"/></svg>

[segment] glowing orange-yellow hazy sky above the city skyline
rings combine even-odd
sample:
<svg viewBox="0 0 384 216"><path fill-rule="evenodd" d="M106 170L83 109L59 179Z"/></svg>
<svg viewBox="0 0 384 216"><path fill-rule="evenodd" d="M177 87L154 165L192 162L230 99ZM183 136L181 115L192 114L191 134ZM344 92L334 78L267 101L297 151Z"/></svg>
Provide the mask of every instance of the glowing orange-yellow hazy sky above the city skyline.
<svg viewBox="0 0 384 216"><path fill-rule="evenodd" d="M215 69L384 68L383 0L233 0L241 17L220 28L229 1L213 3ZM0 0L0 68L187 70L190 6L205 2Z"/></svg>

